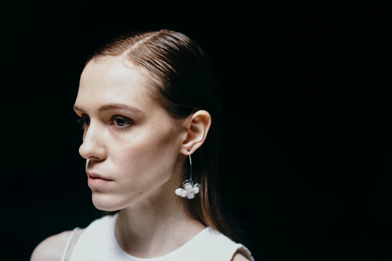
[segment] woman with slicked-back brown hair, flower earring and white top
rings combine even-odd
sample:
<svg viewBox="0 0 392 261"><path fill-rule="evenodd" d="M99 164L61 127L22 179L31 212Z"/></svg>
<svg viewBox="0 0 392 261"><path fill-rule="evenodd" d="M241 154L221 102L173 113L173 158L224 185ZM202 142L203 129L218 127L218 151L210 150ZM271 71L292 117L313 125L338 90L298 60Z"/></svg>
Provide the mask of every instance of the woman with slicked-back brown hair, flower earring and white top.
<svg viewBox="0 0 392 261"><path fill-rule="evenodd" d="M94 205L120 210L48 237L31 260L253 260L219 201L216 91L204 50L179 32L94 51L74 105L79 152Z"/></svg>

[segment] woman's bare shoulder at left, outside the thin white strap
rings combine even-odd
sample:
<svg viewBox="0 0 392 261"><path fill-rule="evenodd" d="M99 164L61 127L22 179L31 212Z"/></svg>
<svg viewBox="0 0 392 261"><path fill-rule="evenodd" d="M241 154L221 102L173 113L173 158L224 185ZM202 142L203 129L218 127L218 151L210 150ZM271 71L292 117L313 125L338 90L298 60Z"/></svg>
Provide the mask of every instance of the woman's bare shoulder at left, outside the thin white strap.
<svg viewBox="0 0 392 261"><path fill-rule="evenodd" d="M60 261L71 233L68 230L45 238L34 249L30 261Z"/></svg>

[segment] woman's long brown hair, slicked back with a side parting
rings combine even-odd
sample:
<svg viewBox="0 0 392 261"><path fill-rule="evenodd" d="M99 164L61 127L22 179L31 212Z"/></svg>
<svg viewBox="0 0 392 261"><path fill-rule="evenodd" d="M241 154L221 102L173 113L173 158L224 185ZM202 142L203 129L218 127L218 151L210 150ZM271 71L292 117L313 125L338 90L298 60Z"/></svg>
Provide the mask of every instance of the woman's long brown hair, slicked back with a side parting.
<svg viewBox="0 0 392 261"><path fill-rule="evenodd" d="M194 219L232 240L243 241L246 232L234 218L228 200L221 201L219 176L225 171L223 164L219 164L223 160L220 153L223 115L217 79L205 50L180 32L167 29L130 31L95 49L85 66L91 60L110 57L123 57L148 76L151 83L148 90L178 128L197 110L210 113L212 124L208 135L192 154L192 180L201 183L202 189L193 199L186 200L185 210ZM189 164L184 164L183 180L188 176ZM105 211L106 214L115 212Z"/></svg>

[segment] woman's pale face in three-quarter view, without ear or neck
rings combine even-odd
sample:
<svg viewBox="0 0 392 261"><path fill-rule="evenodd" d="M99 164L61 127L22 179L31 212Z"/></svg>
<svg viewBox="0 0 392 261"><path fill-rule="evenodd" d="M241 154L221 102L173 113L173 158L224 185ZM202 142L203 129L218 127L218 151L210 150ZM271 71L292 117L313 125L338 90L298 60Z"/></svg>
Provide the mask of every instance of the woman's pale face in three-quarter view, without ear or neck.
<svg viewBox="0 0 392 261"><path fill-rule="evenodd" d="M85 123L79 152L87 159L87 172L113 180L89 184L98 209L122 209L164 193L176 196L165 186L178 184L173 175L181 170L184 135L147 94L146 84L145 76L125 67L121 58L90 61L82 72L75 101ZM108 106L115 103L130 109Z"/></svg>

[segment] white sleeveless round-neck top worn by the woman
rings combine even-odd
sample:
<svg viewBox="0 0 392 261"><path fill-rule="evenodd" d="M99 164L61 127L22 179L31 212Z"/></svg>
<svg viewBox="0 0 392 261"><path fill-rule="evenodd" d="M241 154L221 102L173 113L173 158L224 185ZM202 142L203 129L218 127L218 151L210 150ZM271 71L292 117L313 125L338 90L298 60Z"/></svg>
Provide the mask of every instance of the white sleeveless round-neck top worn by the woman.
<svg viewBox="0 0 392 261"><path fill-rule="evenodd" d="M249 260L254 258L241 243L236 243L223 233L207 226L176 250L159 257L141 258L124 251L115 236L115 221L118 213L105 215L91 222L78 237L72 253L68 252L75 232L72 231L63 252L62 261L230 261L235 252Z"/></svg>

